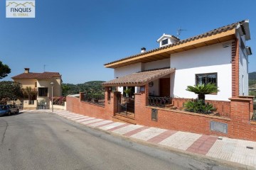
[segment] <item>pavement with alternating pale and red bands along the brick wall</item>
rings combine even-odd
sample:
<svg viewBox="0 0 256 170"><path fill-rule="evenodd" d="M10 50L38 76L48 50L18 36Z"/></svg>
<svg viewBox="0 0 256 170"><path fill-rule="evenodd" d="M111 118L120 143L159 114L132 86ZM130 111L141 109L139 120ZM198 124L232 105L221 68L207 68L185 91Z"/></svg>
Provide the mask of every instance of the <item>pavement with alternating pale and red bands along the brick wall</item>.
<svg viewBox="0 0 256 170"><path fill-rule="evenodd" d="M49 110L23 111L26 112L51 112ZM228 137L199 135L191 132L150 128L142 125L113 122L90 118L68 111L54 111L68 120L73 120L82 125L99 128L125 137L150 142L155 145L179 149L183 152L203 154L208 157L223 159L255 167L256 169L256 142L235 140Z"/></svg>

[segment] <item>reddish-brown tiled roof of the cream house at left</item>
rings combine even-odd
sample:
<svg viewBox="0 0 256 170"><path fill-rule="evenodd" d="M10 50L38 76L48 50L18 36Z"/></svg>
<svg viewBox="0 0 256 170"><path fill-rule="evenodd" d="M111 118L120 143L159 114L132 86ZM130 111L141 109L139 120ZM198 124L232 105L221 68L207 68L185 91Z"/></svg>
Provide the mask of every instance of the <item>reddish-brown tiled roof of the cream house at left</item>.
<svg viewBox="0 0 256 170"><path fill-rule="evenodd" d="M50 79L52 77L60 77L60 73L58 72L43 72L43 73L22 73L18 74L15 77L11 77L11 79Z"/></svg>

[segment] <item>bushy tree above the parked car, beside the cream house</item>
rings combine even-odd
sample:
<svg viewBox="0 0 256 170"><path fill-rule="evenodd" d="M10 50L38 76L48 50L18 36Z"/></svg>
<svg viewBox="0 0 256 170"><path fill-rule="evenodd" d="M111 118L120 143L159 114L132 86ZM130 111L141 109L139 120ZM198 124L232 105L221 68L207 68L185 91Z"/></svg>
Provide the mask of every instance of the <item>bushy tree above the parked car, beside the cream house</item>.
<svg viewBox="0 0 256 170"><path fill-rule="evenodd" d="M0 101L4 98L11 101L23 98L21 84L15 81L0 81Z"/></svg>

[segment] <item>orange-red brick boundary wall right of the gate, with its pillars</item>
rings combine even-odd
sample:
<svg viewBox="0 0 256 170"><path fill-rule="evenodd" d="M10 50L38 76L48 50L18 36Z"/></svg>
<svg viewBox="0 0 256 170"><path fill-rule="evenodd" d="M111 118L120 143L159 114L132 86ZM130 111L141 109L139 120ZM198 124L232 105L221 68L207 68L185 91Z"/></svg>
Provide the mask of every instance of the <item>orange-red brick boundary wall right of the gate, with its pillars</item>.
<svg viewBox="0 0 256 170"><path fill-rule="evenodd" d="M145 90L148 90L147 86ZM155 121L151 120L152 108L146 107L146 91L135 96L135 120L139 125L256 141L256 125L251 124L249 118L252 98L230 98L230 118L159 108ZM211 131L210 121L227 123L228 133Z"/></svg>

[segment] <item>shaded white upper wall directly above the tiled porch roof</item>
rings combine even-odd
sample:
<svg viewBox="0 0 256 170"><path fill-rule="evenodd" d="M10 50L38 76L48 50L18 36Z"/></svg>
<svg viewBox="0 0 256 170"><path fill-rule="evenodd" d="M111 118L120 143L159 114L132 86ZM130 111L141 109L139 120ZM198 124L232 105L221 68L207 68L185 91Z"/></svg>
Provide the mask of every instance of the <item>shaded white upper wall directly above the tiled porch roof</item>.
<svg viewBox="0 0 256 170"><path fill-rule="evenodd" d="M116 79L117 77L123 77L128 74L132 74L135 72L142 72L141 62L124 66L124 67L117 67L116 69L114 69L114 79Z"/></svg>

